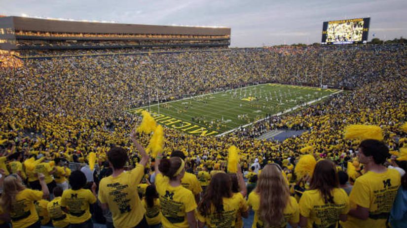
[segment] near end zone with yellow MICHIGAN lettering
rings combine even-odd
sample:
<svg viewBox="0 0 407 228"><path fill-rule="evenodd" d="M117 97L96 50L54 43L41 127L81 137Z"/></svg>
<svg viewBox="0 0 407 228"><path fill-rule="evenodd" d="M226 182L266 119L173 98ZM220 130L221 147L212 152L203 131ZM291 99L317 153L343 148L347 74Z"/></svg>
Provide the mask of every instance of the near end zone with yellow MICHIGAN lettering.
<svg viewBox="0 0 407 228"><path fill-rule="evenodd" d="M145 109L135 109L127 111L130 114L141 114L142 111ZM146 111L148 111L146 109ZM184 120L174 118L164 114L158 114L155 112L150 112L151 116L157 121L157 123L161 123L167 127L172 127L174 129L178 129L184 131L188 134L192 135L199 135L199 136L209 136L209 135L217 135L218 131L210 131L205 127L198 126L194 123L186 122Z"/></svg>

